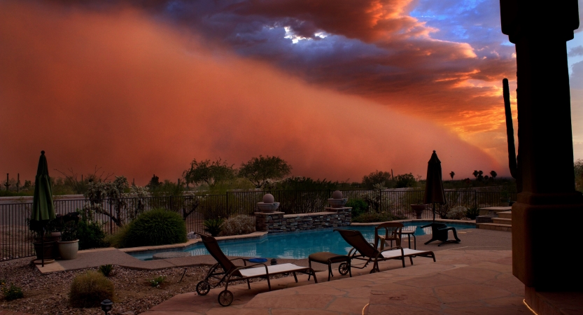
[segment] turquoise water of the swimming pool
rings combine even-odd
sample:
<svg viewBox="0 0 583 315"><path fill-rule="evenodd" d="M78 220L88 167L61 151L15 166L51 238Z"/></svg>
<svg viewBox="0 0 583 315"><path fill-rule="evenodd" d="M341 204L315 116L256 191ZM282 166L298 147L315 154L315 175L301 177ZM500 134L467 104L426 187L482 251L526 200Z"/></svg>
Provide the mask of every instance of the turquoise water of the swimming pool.
<svg viewBox="0 0 583 315"><path fill-rule="evenodd" d="M415 227L415 235L431 234L430 228L419 228L429 224L430 221L416 221L403 223L405 227ZM456 230L475 228L475 224L452 224L448 226ZM368 241L374 241L374 225L370 226L349 226L343 227L347 230L359 230ZM404 245L407 246L407 237L403 236ZM413 237L411 239L413 242ZM342 239L339 232L333 229L310 230L302 232L269 233L264 237L250 237L247 239L233 239L218 241L220 248L225 255L241 257L262 257L262 258L307 258L311 253L318 251L330 251L332 253L348 253L351 246ZM413 246L413 244L411 244ZM184 251L191 255L209 255L202 243L195 244ZM140 260L150 260L153 252L130 253L130 255Z"/></svg>

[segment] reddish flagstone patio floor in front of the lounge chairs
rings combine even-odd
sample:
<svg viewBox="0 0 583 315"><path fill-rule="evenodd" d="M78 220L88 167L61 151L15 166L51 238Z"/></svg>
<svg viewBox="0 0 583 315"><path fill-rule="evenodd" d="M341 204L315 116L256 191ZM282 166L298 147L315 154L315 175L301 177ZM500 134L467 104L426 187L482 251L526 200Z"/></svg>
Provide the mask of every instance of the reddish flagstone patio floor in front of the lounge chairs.
<svg viewBox="0 0 583 315"><path fill-rule="evenodd" d="M148 315L186 314L529 314L524 285L512 276L512 252L456 248L436 251L437 262L415 258L416 265L381 263L381 272L353 269L353 277L318 284L300 276L267 283L230 286L234 302L221 307L220 288L206 296L186 293L159 304ZM360 271L360 272L359 272Z"/></svg>

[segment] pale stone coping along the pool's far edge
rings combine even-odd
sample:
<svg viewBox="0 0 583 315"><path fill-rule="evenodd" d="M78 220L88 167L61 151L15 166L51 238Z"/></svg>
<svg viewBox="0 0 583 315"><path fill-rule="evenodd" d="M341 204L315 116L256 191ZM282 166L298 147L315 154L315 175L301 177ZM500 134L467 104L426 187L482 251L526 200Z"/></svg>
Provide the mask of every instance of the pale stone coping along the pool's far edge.
<svg viewBox="0 0 583 315"><path fill-rule="evenodd" d="M398 223L406 223L406 222L420 222L420 221L433 221L433 219L407 219L407 220L395 220L395 221L384 221L384 222L372 222L372 223L351 223L349 226L370 226L370 225L379 225L385 222L398 222ZM450 219L435 219L435 222L440 223L457 223L457 224L467 224L467 225L476 225L475 220L450 220ZM323 229L315 229L315 230L323 230ZM302 231L295 231L295 232L305 232L310 230L302 230ZM295 233L290 232L290 233ZM267 235L268 232L253 232L250 234L244 235L230 235L225 237L215 237L217 241L234 241L237 239L248 239L248 238L260 238ZM281 234L281 233L277 233ZM184 248L192 246L201 242L200 238L197 239L189 239L185 243L181 244L167 244L167 245L158 245L158 246L142 246L142 247L129 247L129 248L118 248L119 251L127 253L131 255L132 253L140 253L140 254L155 254L155 253L164 253L168 252L169 249L176 249L176 251L182 251ZM139 258L136 258L139 259Z"/></svg>

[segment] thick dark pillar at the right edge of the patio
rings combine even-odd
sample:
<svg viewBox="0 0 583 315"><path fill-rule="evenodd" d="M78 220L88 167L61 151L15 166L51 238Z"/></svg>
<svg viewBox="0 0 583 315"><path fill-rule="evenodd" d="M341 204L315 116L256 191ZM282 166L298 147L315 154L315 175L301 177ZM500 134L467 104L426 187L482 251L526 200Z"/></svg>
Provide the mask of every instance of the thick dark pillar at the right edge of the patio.
<svg viewBox="0 0 583 315"><path fill-rule="evenodd" d="M582 290L582 262L569 254L579 246L583 197L573 174L566 47L579 11L577 0L500 0L500 15L517 51L522 191L512 206L512 270L529 302L538 291Z"/></svg>

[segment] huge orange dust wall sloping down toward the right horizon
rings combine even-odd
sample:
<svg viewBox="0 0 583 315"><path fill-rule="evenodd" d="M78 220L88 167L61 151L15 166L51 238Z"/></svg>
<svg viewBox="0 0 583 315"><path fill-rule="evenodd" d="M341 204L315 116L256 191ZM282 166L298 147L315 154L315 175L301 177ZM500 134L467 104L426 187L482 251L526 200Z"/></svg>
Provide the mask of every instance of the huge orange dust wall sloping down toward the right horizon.
<svg viewBox="0 0 583 315"><path fill-rule="evenodd" d="M190 34L190 33L189 33ZM145 184L192 158L239 165L279 155L293 174L360 181L375 169L425 176L497 163L426 120L326 90L126 9L0 3L0 172L31 179L94 165ZM466 175L465 175L466 174ZM55 176L55 172L52 172Z"/></svg>

